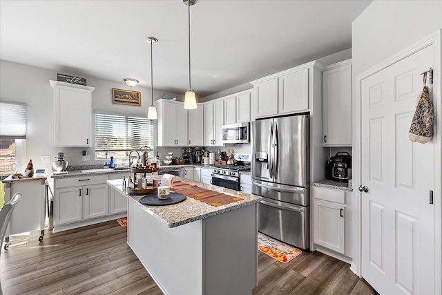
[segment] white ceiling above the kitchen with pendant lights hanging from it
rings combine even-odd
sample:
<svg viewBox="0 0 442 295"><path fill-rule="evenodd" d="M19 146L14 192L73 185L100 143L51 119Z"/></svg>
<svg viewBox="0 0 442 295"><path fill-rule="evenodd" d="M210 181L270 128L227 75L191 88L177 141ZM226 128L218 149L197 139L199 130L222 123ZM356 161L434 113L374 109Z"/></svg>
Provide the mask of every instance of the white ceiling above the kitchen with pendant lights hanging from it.
<svg viewBox="0 0 442 295"><path fill-rule="evenodd" d="M371 1L220 1L191 6L192 88L205 97L352 46ZM0 1L0 59L184 93L187 6L162 1Z"/></svg>

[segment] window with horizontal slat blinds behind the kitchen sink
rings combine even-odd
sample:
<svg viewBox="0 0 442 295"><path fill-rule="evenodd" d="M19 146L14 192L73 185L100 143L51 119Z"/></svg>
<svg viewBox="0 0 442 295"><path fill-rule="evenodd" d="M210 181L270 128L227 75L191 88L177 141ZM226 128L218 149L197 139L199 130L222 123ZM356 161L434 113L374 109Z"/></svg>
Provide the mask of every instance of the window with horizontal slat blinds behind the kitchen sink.
<svg viewBox="0 0 442 295"><path fill-rule="evenodd" d="M95 158L127 158L133 150L153 149L153 120L95 113ZM153 158L153 152L149 154Z"/></svg>

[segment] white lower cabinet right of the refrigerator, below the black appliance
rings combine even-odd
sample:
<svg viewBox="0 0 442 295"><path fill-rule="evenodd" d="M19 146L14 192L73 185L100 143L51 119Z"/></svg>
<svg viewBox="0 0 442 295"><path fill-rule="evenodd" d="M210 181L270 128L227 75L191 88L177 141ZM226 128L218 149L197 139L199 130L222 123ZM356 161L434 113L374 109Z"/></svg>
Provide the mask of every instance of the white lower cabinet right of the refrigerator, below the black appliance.
<svg viewBox="0 0 442 295"><path fill-rule="evenodd" d="M345 191L313 189L313 242L345 254Z"/></svg>

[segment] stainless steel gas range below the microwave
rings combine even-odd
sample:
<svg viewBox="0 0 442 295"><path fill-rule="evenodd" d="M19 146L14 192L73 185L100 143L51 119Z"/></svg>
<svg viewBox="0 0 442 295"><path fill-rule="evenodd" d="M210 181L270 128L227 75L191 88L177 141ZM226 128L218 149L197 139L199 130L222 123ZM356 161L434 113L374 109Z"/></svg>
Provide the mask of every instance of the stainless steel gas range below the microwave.
<svg viewBox="0 0 442 295"><path fill-rule="evenodd" d="M212 169L212 184L227 189L241 190L240 171L250 171L250 155L235 155L236 165L215 165Z"/></svg>

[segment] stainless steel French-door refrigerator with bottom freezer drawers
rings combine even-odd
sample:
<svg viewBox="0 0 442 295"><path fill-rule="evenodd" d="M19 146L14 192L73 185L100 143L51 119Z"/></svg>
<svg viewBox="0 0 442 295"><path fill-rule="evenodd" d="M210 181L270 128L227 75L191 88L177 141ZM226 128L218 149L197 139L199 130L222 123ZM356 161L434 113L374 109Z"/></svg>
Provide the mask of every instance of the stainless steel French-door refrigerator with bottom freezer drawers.
<svg viewBox="0 0 442 295"><path fill-rule="evenodd" d="M251 124L252 193L258 230L287 244L309 248L309 115Z"/></svg>

